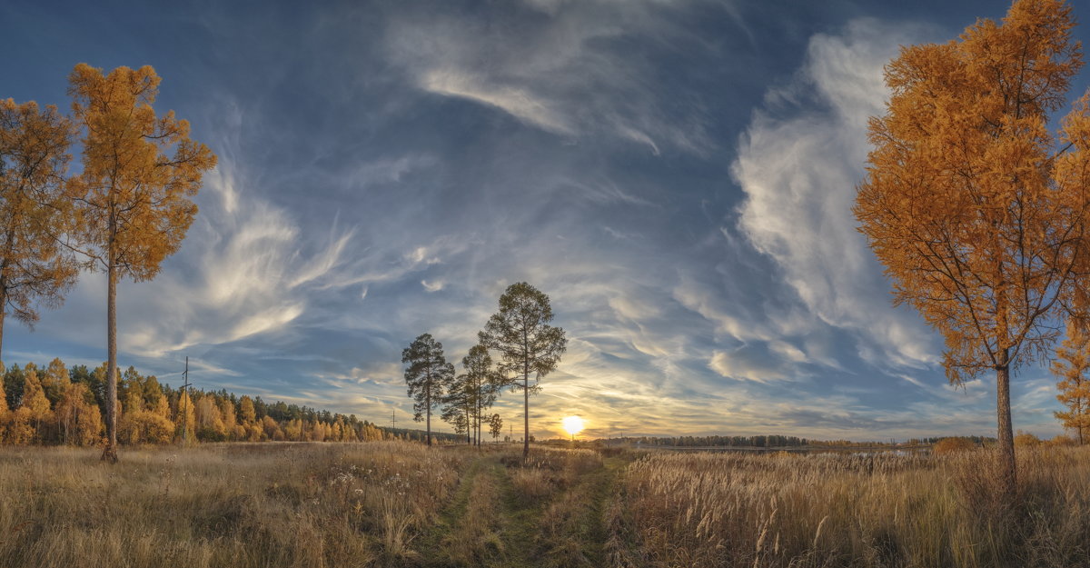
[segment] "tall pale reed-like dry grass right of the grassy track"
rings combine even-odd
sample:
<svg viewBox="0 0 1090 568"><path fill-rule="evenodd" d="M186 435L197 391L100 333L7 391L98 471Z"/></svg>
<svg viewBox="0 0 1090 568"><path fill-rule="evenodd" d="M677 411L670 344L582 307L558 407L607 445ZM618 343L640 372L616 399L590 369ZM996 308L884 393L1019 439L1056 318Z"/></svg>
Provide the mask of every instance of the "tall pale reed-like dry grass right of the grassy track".
<svg viewBox="0 0 1090 568"><path fill-rule="evenodd" d="M1020 450L1015 505L994 455L656 452L608 511L618 565L1090 566L1090 449Z"/></svg>

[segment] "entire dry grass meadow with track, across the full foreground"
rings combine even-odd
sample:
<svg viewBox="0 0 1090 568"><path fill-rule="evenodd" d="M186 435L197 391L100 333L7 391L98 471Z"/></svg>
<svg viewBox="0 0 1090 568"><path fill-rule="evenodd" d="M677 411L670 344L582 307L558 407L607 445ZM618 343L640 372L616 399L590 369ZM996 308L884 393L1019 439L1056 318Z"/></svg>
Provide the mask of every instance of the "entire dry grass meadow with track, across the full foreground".
<svg viewBox="0 0 1090 568"><path fill-rule="evenodd" d="M1090 450L0 450L0 566L1090 566Z"/></svg>

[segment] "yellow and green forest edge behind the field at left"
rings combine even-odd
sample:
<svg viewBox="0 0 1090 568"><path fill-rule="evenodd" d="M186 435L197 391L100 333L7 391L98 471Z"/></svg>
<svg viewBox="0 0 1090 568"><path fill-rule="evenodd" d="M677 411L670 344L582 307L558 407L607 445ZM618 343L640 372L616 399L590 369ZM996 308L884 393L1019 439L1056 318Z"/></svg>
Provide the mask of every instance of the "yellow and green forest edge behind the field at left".
<svg viewBox="0 0 1090 568"><path fill-rule="evenodd" d="M354 414L331 413L227 390L171 388L134 367L118 373L118 439L122 444L196 442L367 442L422 439L415 430L376 426ZM66 367L55 359L3 372L0 442L97 445L105 434L106 365ZM460 439L435 434L441 439Z"/></svg>

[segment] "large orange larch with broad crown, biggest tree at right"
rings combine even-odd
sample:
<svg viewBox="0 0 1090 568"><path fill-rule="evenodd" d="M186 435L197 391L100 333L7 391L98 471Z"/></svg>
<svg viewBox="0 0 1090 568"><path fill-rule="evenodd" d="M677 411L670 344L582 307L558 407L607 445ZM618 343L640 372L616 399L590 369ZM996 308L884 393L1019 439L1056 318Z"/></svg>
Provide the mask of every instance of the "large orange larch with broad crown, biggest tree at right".
<svg viewBox="0 0 1090 568"><path fill-rule="evenodd" d="M1063 120L1082 67L1070 7L1018 0L1002 23L901 48L891 98L870 121L855 214L894 283L944 337L953 384L996 379L1001 491L1016 482L1010 372L1049 355L1053 322L1085 298L1090 113Z"/></svg>

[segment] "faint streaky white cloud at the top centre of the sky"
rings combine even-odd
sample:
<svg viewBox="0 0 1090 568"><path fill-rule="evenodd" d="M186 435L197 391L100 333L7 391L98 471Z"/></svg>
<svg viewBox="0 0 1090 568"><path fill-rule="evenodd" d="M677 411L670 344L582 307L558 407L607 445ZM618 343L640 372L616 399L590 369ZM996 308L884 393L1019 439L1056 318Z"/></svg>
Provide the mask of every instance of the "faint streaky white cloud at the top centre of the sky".
<svg viewBox="0 0 1090 568"><path fill-rule="evenodd" d="M496 15L395 19L391 59L428 93L475 101L566 138L608 135L647 147L706 154L703 108L664 100L653 69L620 47L643 38L665 45L689 36L655 1L512 3L547 14L535 25ZM668 111L666 109L669 109Z"/></svg>

